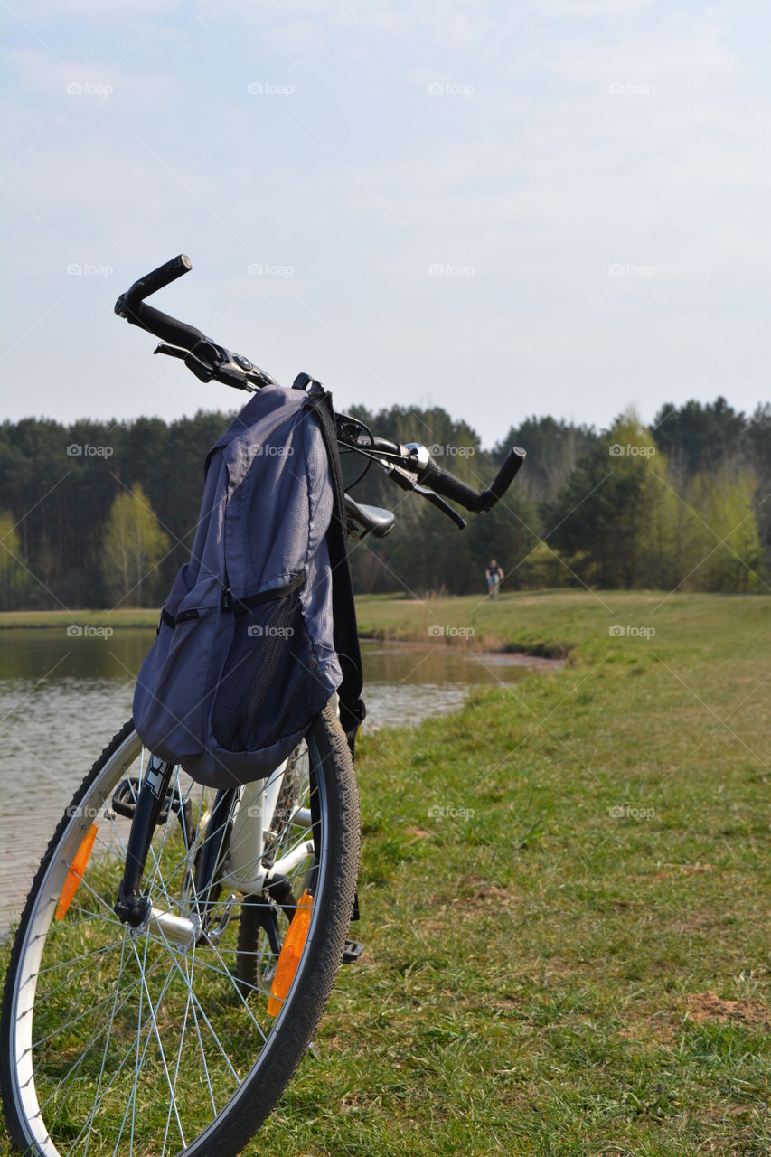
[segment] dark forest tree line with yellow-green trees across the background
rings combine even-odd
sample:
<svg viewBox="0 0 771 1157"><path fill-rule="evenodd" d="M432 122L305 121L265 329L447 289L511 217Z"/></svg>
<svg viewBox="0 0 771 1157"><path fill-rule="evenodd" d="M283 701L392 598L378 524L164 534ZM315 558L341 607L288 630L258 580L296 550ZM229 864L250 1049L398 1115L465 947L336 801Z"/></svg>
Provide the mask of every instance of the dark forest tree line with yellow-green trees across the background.
<svg viewBox="0 0 771 1157"><path fill-rule="evenodd" d="M649 428L631 412L604 430L530 418L491 448L439 407L352 413L383 437L426 443L476 487L511 445L528 451L505 500L463 533L373 466L354 496L396 509L397 525L354 545L359 591L483 591L491 558L504 589L771 587L769 405L664 405ZM232 417L0 426L0 609L161 602L190 551L206 452Z"/></svg>

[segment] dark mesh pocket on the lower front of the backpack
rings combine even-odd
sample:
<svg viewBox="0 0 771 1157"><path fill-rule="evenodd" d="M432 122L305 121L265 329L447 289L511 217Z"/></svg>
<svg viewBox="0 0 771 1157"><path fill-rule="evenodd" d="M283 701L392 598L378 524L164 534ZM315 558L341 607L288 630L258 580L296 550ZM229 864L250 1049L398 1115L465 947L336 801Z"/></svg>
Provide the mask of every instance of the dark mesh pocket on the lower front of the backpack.
<svg viewBox="0 0 771 1157"><path fill-rule="evenodd" d="M304 734L329 699L300 591L296 584L288 595L282 590L236 605L212 710L212 732L226 751L259 751Z"/></svg>

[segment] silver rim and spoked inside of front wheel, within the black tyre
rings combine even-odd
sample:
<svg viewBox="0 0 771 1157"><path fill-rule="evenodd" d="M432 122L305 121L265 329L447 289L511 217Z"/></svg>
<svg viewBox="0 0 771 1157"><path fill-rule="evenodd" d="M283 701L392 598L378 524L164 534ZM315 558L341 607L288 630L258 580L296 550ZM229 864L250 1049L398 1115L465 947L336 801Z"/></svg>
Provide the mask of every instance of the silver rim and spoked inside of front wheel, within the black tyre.
<svg viewBox="0 0 771 1157"><path fill-rule="evenodd" d="M130 820L115 813L112 795L127 775L141 776L146 752L131 731L86 781L57 832L34 886L10 994L10 1095L25 1143L45 1157L72 1154L203 1151L215 1127L238 1114L292 1031L293 1003L317 934L326 885L330 841L326 784L304 747L306 788L286 809L294 824L274 833L274 852L310 846L291 874L299 898L308 878L317 883L306 948L278 1016L267 1015L269 992L259 983L244 995L237 977L238 899L222 886L208 928L230 920L222 937L182 943L157 921L133 931L112 905L123 872ZM317 754L315 757L318 762ZM213 793L175 768L181 805L190 808L193 837L178 810L159 824L145 871L144 893L159 912L184 919L194 900L194 862L206 831ZM311 789L316 793L311 827ZM97 824L94 852L63 920L56 908L83 833ZM315 830L315 831L314 831ZM227 863L219 865L226 875ZM252 901L254 902L254 901ZM271 907L281 939L286 912ZM242 948L243 951L243 948ZM265 964L270 946L255 945ZM8 994L7 994L8 996Z"/></svg>

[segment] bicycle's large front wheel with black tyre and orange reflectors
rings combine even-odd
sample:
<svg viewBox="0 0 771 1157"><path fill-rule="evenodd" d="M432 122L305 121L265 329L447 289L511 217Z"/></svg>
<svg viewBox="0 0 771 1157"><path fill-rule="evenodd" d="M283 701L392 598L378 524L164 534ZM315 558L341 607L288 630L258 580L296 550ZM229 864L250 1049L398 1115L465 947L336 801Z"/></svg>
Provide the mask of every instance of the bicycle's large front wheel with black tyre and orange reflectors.
<svg viewBox="0 0 771 1157"><path fill-rule="evenodd" d="M213 811L213 793L175 768L142 886L153 916L131 929L113 912L130 826L120 802L125 812L147 759L127 723L67 808L21 919L6 979L0 1063L8 1132L24 1152L238 1152L307 1049L340 964L355 891L359 806L333 712L323 713L293 754L269 833L269 858L291 865L279 902L266 890L243 904L228 879L225 839L205 929L194 924L188 937L191 914L200 911L196 877L212 815L225 834L238 795L222 816ZM76 868L82 871L74 877ZM303 890L311 906L299 963L288 992L271 1001ZM248 915L240 934L242 911Z"/></svg>

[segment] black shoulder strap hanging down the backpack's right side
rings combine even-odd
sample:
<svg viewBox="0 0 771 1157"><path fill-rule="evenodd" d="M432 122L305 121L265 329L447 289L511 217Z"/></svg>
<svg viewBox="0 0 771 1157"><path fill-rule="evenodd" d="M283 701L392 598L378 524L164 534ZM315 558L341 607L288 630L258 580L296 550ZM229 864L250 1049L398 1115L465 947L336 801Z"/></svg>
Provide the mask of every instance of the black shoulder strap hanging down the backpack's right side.
<svg viewBox="0 0 771 1157"><path fill-rule="evenodd" d="M308 406L318 420L326 457L329 458L330 478L332 481L332 518L326 532L326 543L332 569L333 638L335 649L337 650L340 670L343 671L343 683L338 691L340 699L340 723L346 734L351 754L353 754L357 731L366 715L366 708L361 699L364 675L361 671L357 609L353 599L353 581L348 563L348 531L345 518L343 469L340 466L340 452L337 444L331 395L326 390L315 388L308 395Z"/></svg>

